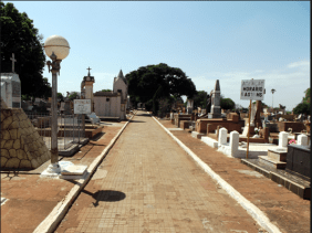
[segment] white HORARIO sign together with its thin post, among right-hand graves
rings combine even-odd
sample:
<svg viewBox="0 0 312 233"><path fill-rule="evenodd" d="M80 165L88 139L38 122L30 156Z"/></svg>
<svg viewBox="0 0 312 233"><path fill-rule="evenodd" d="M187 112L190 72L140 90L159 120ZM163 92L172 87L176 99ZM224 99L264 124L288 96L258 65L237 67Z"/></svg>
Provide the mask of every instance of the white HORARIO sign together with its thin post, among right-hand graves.
<svg viewBox="0 0 312 233"><path fill-rule="evenodd" d="M247 152L249 152L249 134L250 134L250 115L251 115L251 99L263 100L264 97L264 80L242 80L240 88L240 99L249 99L249 119L248 119L248 134L247 134Z"/></svg>

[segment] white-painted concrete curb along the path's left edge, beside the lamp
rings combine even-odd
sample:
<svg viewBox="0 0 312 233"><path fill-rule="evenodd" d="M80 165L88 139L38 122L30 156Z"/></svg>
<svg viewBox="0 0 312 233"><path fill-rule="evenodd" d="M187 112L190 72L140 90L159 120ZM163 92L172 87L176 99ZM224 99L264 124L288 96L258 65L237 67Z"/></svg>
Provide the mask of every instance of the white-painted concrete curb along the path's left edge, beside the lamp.
<svg viewBox="0 0 312 233"><path fill-rule="evenodd" d="M131 123L133 117L136 115L137 112L132 116L132 118L124 125L124 127L118 131L118 134L111 140L110 145L97 156L93 162L89 166L86 170L86 176L84 179L76 180L75 186L69 192L69 194L60 201L56 206L51 211L51 213L37 226L33 233L52 233L59 223L62 221L64 215L67 213L71 204L74 202L76 197L80 194L81 190L87 184L91 177L95 172L96 168L100 166L102 160L105 158L110 149L114 146L123 130L126 126Z"/></svg>

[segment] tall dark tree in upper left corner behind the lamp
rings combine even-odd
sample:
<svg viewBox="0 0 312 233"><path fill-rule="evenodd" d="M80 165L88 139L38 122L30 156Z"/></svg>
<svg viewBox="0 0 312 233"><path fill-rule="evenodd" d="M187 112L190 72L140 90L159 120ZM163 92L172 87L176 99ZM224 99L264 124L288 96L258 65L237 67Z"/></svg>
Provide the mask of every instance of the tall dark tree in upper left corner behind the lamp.
<svg viewBox="0 0 312 233"><path fill-rule="evenodd" d="M45 56L43 36L33 25L25 12L20 13L12 3L0 2L1 15L1 72L12 72L12 53L17 63L14 72L21 80L21 94L24 96L46 97L51 86L43 78Z"/></svg>

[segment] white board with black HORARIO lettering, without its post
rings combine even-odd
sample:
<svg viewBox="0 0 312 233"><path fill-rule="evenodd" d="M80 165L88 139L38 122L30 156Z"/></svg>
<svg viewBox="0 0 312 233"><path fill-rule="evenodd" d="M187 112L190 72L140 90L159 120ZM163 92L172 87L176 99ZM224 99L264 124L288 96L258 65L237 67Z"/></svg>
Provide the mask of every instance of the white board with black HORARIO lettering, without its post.
<svg viewBox="0 0 312 233"><path fill-rule="evenodd" d="M240 99L263 100L264 80L241 81Z"/></svg>

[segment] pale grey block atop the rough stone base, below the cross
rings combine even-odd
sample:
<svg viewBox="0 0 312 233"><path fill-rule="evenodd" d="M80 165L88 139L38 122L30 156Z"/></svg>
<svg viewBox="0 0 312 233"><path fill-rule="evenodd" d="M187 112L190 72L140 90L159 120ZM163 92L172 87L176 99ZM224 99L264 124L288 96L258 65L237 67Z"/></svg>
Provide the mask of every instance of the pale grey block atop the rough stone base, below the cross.
<svg viewBox="0 0 312 233"><path fill-rule="evenodd" d="M8 107L21 108L21 81L18 74L1 73L1 97Z"/></svg>

